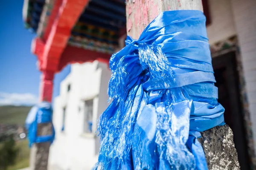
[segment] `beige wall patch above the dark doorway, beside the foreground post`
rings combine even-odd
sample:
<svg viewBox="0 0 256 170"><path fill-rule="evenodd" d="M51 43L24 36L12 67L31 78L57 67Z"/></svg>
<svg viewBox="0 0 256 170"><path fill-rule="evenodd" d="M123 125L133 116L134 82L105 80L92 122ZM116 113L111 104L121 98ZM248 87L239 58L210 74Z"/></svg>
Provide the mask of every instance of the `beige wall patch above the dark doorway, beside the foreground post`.
<svg viewBox="0 0 256 170"><path fill-rule="evenodd" d="M232 0L208 0L211 23L207 26L209 44L236 34Z"/></svg>

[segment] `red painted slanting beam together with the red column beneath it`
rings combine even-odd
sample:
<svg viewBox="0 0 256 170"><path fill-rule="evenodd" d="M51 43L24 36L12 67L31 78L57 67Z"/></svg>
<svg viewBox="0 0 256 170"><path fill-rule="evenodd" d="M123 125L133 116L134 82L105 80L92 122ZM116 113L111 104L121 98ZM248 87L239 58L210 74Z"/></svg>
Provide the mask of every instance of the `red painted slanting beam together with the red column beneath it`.
<svg viewBox="0 0 256 170"><path fill-rule="evenodd" d="M52 100L53 76L46 78L45 75L54 75L59 71L61 54L67 45L71 30L88 3L89 0L56 0L43 38L35 38L32 42L32 52L38 56L38 68L43 72L41 101Z"/></svg>

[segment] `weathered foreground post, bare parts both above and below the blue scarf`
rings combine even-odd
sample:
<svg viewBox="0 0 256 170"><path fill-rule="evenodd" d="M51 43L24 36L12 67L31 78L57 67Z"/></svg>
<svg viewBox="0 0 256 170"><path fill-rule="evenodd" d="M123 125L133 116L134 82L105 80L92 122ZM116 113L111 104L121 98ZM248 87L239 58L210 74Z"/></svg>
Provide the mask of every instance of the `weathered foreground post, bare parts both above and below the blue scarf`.
<svg viewBox="0 0 256 170"><path fill-rule="evenodd" d="M127 34L138 39L143 29L162 11L203 11L201 0L127 0ZM201 142L209 170L239 170L233 132L227 125L201 133Z"/></svg>

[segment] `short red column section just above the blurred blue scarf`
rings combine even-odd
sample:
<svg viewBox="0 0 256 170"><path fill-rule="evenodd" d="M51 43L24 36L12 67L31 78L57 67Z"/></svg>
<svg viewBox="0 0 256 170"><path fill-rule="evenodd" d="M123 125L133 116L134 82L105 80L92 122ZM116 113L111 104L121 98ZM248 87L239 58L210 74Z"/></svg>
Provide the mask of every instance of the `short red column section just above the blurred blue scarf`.
<svg viewBox="0 0 256 170"><path fill-rule="evenodd" d="M52 102L53 78L53 71L42 72L40 85L40 102Z"/></svg>

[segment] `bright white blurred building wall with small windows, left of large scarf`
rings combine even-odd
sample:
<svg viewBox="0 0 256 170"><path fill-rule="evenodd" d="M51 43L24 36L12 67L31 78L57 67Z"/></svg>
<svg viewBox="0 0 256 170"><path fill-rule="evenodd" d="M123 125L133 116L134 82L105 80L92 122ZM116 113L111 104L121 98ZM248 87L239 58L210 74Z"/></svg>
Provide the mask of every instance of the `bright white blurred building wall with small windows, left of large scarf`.
<svg viewBox="0 0 256 170"><path fill-rule="evenodd" d="M61 82L60 95L53 106L55 141L49 153L49 167L54 170L89 170L97 161L99 139L84 134L84 101L94 98L93 132L96 119L108 107L108 65L99 63L73 64L70 74ZM71 90L67 92L68 84ZM65 129L62 132L63 108L66 107ZM80 111L79 111L80 108Z"/></svg>

